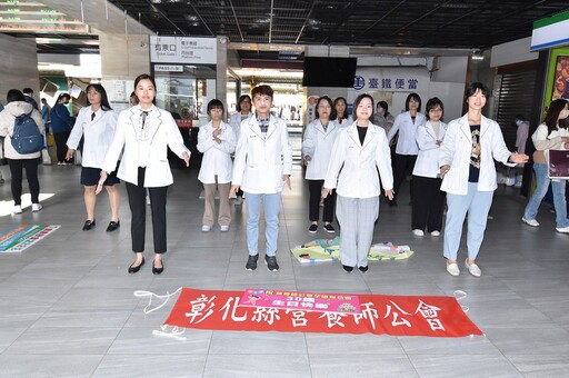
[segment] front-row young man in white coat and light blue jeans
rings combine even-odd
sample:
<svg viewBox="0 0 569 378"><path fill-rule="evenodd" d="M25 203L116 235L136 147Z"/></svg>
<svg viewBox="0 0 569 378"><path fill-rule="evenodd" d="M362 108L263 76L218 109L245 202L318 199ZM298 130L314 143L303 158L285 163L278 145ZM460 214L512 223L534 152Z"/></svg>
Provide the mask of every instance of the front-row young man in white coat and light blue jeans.
<svg viewBox="0 0 569 378"><path fill-rule="evenodd" d="M241 122L237 143L230 197L240 188L247 196L247 270L257 269L259 259L259 218L264 209L267 251L264 262L269 271L278 271L277 243L279 211L284 185L290 189L292 149L287 123L271 115L272 88L257 86L251 92L256 113Z"/></svg>

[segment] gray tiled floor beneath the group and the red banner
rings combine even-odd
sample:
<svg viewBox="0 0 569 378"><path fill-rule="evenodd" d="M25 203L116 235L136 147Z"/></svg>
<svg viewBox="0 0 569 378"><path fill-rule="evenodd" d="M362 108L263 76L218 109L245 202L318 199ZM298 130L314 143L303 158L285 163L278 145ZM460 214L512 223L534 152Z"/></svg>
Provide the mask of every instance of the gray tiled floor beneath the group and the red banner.
<svg viewBox="0 0 569 378"><path fill-rule="evenodd" d="M9 177L7 167L1 167ZM0 187L0 228L56 223L61 229L22 253L0 253L1 377L562 377L569 375L569 236L555 231L541 208L541 227L520 222L526 199L496 191L478 262L481 278L445 270L442 237L410 231L408 198L382 206L375 241L407 243L409 260L375 262L368 275L339 265L300 266L288 250L311 240L307 187L300 168L283 196L278 273L246 271L244 208L233 208L227 233L201 232L201 185L196 170L174 170L169 191L166 271L151 263L128 275L130 216L124 188L119 231L104 231L106 195L98 226L82 232L84 208L78 167L40 167L43 210L11 210L10 181ZM402 190L407 192L407 190ZM53 196L50 197L50 193ZM28 198L29 201L29 198ZM29 205L29 203L28 203ZM150 231L150 229L149 229ZM319 231L316 237L325 237ZM147 235L148 250L151 233ZM465 250L461 250L465 258ZM151 253L147 255L151 258ZM423 338L300 332L187 330L186 341L152 336L169 314L143 315L133 290L248 287L330 292L452 295L465 290L469 317L486 337Z"/></svg>

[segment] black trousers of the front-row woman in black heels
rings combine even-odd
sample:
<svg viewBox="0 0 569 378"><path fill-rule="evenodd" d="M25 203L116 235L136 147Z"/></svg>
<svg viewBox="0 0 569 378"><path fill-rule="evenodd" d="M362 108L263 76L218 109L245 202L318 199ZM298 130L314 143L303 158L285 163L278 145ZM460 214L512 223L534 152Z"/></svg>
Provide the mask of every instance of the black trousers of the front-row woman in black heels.
<svg viewBox="0 0 569 378"><path fill-rule="evenodd" d="M138 185L127 182L130 212L132 220L130 233L132 251L144 251L147 228L147 190L144 188L146 168L138 168ZM152 235L154 238L154 253L166 252L166 195L168 187L148 188L150 192L150 209L152 211Z"/></svg>

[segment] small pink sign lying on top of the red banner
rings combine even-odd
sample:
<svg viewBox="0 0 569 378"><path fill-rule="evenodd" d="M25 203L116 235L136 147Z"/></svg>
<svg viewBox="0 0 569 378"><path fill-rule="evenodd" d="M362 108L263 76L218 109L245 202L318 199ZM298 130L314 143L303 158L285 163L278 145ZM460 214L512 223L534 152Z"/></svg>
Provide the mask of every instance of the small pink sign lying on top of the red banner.
<svg viewBox="0 0 569 378"><path fill-rule="evenodd" d="M241 297L240 306L300 309L319 312L360 312L358 296L295 290L247 289Z"/></svg>

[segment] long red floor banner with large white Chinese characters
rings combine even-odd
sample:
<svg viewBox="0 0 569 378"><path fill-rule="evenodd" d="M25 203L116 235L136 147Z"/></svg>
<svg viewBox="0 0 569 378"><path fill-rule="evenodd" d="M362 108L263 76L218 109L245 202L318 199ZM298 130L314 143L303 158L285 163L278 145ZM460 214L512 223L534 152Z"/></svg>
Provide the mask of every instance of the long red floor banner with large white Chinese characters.
<svg viewBox="0 0 569 378"><path fill-rule="evenodd" d="M361 314L239 306L243 291L183 288L164 326L282 332L483 335L453 297L358 295Z"/></svg>

